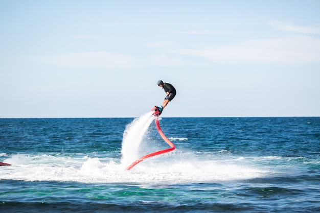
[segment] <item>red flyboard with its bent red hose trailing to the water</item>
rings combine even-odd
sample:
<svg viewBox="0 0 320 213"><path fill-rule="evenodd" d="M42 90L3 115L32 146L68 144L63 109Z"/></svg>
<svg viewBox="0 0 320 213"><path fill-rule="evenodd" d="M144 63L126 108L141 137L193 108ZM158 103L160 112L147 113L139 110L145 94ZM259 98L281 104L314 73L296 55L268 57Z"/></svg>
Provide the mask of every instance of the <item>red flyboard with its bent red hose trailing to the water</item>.
<svg viewBox="0 0 320 213"><path fill-rule="evenodd" d="M159 134L161 135L162 139L164 139L166 141L166 143L171 147L169 149L164 149L164 150L161 150L161 151L157 151L157 152L153 152L153 153L150 153L148 155L145 155L141 158L139 158L138 160L134 161L133 163L131 163L129 165L129 167L127 167L126 171L129 171L132 169L132 167L134 167L136 164L140 163L141 161L143 161L144 159L147 159L149 157L153 157L153 156L156 156L156 155L161 155L161 154L164 154L164 153L167 153L167 152L171 152L173 150L175 150L175 146L174 144L172 144L172 142L166 137L166 135L163 133L163 131L161 130L160 128L160 125L159 125L159 119L158 119L158 116L161 114L161 111L158 109L158 107L153 107L151 111L154 111L153 112L153 115L155 116L155 125L156 125L156 128L159 132Z"/></svg>

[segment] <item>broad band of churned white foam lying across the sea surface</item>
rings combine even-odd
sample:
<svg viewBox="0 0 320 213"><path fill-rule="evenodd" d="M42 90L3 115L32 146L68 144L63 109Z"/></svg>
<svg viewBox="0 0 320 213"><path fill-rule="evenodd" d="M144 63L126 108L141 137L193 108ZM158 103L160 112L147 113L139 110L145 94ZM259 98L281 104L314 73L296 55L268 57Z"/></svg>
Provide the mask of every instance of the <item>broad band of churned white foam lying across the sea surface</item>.
<svg viewBox="0 0 320 213"><path fill-rule="evenodd" d="M288 171L260 165L263 157L199 159L173 152L147 159L125 171L118 158L70 157L24 154L6 160L1 179L25 181L77 181L83 183L175 184L232 181L239 179L287 176Z"/></svg>

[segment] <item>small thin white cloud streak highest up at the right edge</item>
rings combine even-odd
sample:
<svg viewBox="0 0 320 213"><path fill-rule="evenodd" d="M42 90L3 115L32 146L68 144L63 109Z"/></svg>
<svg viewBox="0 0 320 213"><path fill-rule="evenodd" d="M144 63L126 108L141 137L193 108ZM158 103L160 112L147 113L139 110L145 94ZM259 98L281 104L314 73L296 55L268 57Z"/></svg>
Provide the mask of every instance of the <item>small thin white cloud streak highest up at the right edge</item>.
<svg viewBox="0 0 320 213"><path fill-rule="evenodd" d="M293 32L293 33L305 33L305 34L316 34L320 35L320 27L304 27L304 26L297 26L293 25L292 23L283 23L278 21L269 22L269 25L273 28L286 31L286 32Z"/></svg>

